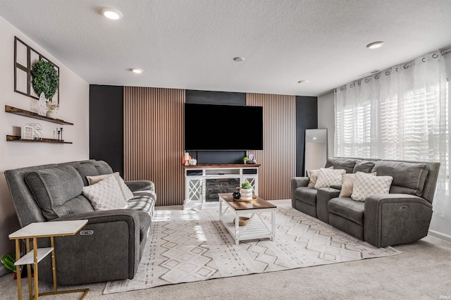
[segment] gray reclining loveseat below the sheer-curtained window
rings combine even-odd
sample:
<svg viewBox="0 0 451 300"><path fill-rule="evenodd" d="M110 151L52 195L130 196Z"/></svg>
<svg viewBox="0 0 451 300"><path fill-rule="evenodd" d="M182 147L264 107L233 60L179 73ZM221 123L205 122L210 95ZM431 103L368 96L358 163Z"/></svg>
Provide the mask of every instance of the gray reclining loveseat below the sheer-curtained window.
<svg viewBox="0 0 451 300"><path fill-rule="evenodd" d="M390 194L355 201L339 197L340 185L315 189L309 187L309 177L294 177L290 189L293 208L377 247L426 237L440 163L332 157L325 165L330 167L346 173L391 176Z"/></svg>

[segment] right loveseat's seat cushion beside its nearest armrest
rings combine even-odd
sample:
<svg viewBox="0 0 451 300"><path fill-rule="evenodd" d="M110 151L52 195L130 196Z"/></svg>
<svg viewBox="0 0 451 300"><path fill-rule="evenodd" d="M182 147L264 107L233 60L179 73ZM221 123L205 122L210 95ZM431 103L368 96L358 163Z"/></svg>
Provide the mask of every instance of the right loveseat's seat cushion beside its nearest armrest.
<svg viewBox="0 0 451 300"><path fill-rule="evenodd" d="M351 198L333 198L327 204L329 213L340 215L340 217L359 225L364 225L365 203L354 201Z"/></svg>

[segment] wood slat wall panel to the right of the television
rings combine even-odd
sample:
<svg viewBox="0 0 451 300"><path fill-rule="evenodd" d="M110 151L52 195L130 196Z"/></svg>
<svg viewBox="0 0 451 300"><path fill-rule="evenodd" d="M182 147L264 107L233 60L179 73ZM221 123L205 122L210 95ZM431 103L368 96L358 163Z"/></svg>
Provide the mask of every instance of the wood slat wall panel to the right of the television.
<svg viewBox="0 0 451 300"><path fill-rule="evenodd" d="M263 150L248 151L261 164L259 196L290 199L290 180L296 175L296 97L248 93L246 104L263 106Z"/></svg>

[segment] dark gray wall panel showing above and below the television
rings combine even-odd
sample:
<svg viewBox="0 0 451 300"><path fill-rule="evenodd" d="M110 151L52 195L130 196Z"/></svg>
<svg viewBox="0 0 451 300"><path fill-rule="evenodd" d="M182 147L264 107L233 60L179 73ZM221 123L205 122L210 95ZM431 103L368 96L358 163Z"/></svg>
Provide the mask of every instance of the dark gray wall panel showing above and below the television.
<svg viewBox="0 0 451 300"><path fill-rule="evenodd" d="M185 102L195 104L246 105L246 93L211 92L187 89ZM202 121L199 120L199 123L200 122ZM202 165L242 163L242 158L246 156L246 151L191 151L190 156L196 158L197 163Z"/></svg>

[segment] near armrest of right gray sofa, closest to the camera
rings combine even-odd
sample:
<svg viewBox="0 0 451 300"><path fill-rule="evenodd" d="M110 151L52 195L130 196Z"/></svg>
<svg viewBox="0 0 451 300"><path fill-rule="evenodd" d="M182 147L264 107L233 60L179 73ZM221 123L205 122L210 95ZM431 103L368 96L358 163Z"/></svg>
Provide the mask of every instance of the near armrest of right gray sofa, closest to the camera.
<svg viewBox="0 0 451 300"><path fill-rule="evenodd" d="M365 199L364 240L378 247L415 242L428 235L432 204L409 194L375 194Z"/></svg>

